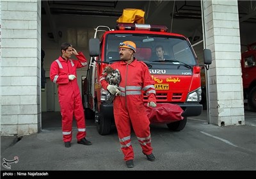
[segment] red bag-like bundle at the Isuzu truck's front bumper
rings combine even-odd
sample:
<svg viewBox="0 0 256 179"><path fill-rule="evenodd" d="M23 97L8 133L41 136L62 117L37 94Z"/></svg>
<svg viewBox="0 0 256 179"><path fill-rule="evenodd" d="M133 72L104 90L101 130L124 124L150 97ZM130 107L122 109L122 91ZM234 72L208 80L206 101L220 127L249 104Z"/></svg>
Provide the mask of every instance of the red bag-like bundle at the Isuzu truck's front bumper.
<svg viewBox="0 0 256 179"><path fill-rule="evenodd" d="M183 120L183 109L177 104L157 103L156 107L144 105L150 123L172 123Z"/></svg>

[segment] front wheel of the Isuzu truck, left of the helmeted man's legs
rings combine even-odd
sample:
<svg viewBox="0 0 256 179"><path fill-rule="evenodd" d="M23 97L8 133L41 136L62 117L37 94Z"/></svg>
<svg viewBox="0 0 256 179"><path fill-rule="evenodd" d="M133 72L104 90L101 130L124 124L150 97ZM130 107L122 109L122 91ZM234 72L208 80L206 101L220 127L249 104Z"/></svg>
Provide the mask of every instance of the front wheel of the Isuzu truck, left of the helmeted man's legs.
<svg viewBox="0 0 256 179"><path fill-rule="evenodd" d="M96 110L95 110L95 120L97 131L100 135L104 136L110 133L111 130L111 119L105 118L99 111L98 111L98 105L96 104Z"/></svg>

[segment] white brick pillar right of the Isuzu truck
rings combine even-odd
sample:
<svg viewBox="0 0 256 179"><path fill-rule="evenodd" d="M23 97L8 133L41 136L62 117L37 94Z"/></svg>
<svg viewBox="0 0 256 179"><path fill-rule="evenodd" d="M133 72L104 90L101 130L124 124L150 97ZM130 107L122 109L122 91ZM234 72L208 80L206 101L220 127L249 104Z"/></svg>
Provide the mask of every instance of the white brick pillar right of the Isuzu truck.
<svg viewBox="0 0 256 179"><path fill-rule="evenodd" d="M218 126L244 125L241 46L237 1L204 1L209 69L210 120Z"/></svg>

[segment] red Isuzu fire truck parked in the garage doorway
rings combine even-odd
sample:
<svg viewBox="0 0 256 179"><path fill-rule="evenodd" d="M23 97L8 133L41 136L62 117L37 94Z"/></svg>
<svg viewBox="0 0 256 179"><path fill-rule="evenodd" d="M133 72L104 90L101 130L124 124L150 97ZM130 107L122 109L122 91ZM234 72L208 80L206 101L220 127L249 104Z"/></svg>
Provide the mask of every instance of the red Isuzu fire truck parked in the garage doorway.
<svg viewBox="0 0 256 179"><path fill-rule="evenodd" d="M99 77L106 65L120 60L118 47L126 40L136 43L136 59L143 61L155 81L157 103L177 104L183 109L183 120L166 123L170 130L180 131L188 116L202 113L200 68L188 38L168 33L166 26L117 23L115 29L98 26L89 41L90 63L84 79L83 104L86 118L93 118L101 135L115 127L113 103L106 103L107 91ZM101 38L99 34L101 33ZM156 47L164 47L165 61L158 61ZM211 64L211 51L204 49L204 64ZM147 95L142 93L147 103ZM138 116L139 117L139 116Z"/></svg>

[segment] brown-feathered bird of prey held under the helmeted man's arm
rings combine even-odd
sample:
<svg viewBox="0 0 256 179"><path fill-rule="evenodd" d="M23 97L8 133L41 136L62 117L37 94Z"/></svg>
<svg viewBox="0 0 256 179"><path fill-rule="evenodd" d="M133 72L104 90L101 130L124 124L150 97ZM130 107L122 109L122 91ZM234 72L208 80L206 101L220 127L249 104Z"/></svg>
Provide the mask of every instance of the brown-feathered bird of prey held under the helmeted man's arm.
<svg viewBox="0 0 256 179"><path fill-rule="evenodd" d="M104 68L103 74L106 74L105 80L108 82L108 84L119 86L119 83L121 81L121 75L118 69L114 70L114 68L112 68L111 66L106 66ZM116 95L112 95L111 93L109 93L109 91L107 91L105 102L107 104L110 104L111 102L113 102L115 96Z"/></svg>

